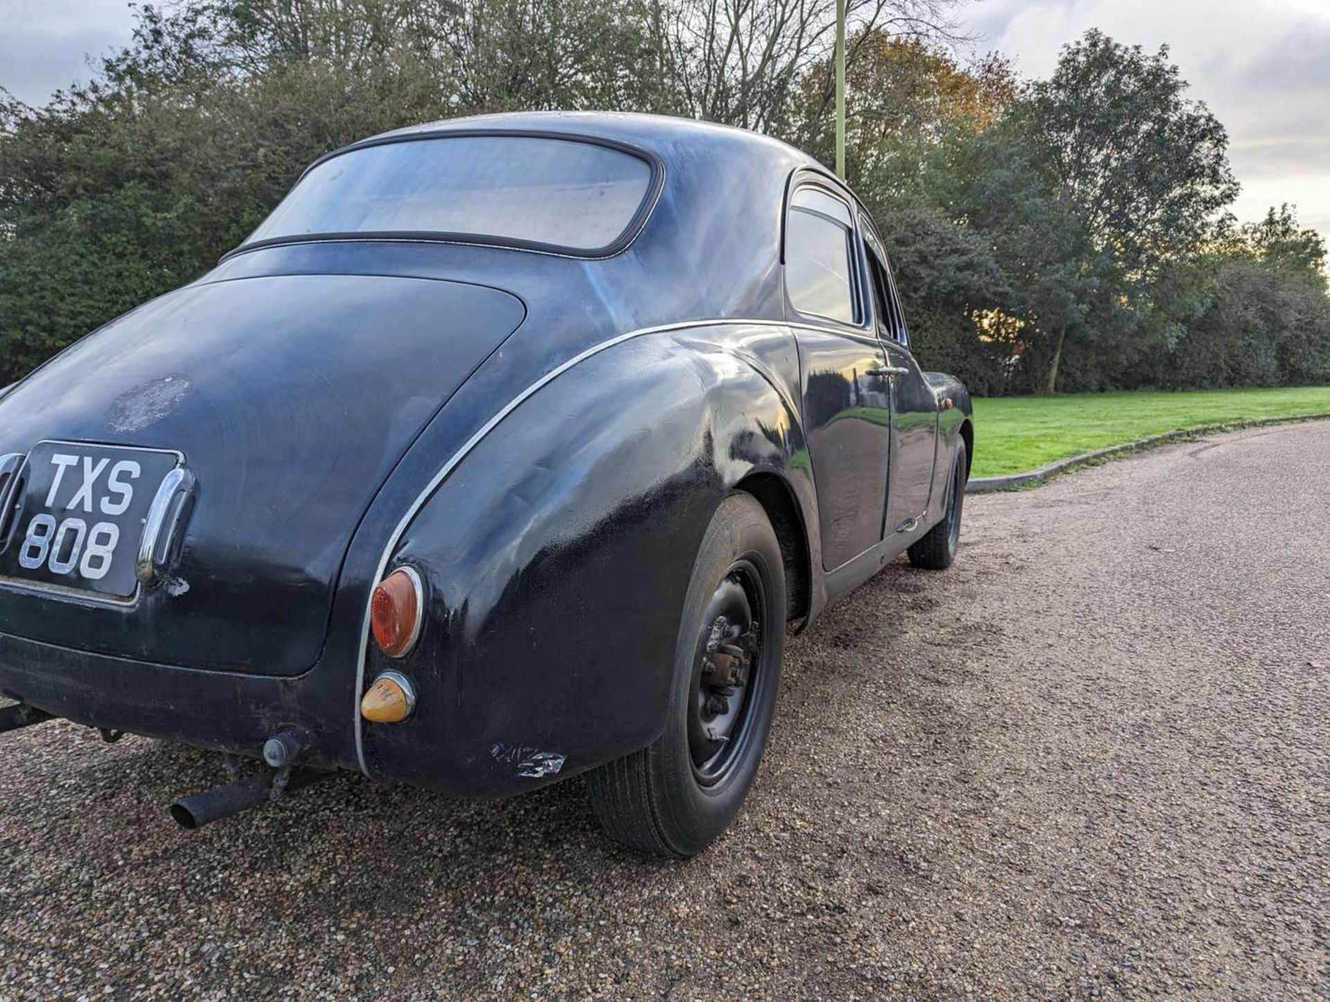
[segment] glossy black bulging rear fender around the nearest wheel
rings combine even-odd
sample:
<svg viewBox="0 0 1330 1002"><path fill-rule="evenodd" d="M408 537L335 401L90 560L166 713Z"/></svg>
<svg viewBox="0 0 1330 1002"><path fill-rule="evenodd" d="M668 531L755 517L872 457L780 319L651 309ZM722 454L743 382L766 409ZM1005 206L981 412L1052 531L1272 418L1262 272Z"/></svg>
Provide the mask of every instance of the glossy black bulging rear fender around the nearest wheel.
<svg viewBox="0 0 1330 1002"><path fill-rule="evenodd" d="M420 571L427 613L400 661L370 645L366 684L396 668L418 707L362 725L368 772L505 794L653 741L726 492L773 474L817 524L797 386L783 327L658 331L585 358L496 424L388 562Z"/></svg>

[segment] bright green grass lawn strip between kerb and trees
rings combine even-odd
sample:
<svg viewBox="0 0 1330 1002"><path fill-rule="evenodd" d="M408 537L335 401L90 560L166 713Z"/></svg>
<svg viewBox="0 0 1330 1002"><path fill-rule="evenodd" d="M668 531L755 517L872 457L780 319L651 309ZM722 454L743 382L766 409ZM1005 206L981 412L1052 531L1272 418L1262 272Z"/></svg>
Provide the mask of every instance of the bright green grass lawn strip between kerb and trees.
<svg viewBox="0 0 1330 1002"><path fill-rule="evenodd" d="M975 398L971 476L1015 474L1164 431L1330 413L1330 386Z"/></svg>

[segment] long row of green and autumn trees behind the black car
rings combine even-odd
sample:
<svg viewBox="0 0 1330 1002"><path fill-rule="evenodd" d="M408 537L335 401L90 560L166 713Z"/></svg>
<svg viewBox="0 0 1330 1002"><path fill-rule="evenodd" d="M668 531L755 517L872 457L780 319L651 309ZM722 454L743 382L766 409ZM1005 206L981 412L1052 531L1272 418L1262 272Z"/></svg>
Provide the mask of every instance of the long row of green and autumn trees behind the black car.
<svg viewBox="0 0 1330 1002"><path fill-rule="evenodd" d="M962 61L963 0L850 0L849 172L912 345L976 393L1330 381L1325 245L1237 225L1166 49ZM0 100L0 381L235 246L321 153L456 114L688 113L830 162L833 0L181 0ZM1012 359L1019 359L1013 363ZM0 385L3 385L0 382Z"/></svg>

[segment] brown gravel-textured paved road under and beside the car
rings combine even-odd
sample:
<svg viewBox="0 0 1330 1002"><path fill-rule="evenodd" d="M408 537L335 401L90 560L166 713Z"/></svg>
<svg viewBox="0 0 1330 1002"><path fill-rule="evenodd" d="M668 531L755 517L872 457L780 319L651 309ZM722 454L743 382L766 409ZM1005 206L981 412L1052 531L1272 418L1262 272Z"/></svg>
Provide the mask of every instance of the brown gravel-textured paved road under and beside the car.
<svg viewBox="0 0 1330 1002"><path fill-rule="evenodd" d="M971 498L952 571L791 643L686 865L577 782L346 777L185 834L209 757L5 736L0 997L1330 997L1327 487L1321 423Z"/></svg>

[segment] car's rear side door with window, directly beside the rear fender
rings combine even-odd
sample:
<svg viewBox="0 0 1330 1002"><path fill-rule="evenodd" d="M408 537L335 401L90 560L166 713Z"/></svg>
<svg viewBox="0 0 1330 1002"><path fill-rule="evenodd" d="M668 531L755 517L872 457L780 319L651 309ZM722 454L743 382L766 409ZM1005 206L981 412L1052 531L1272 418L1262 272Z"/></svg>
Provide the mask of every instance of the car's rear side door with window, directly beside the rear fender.
<svg viewBox="0 0 1330 1002"><path fill-rule="evenodd" d="M798 185L786 216L786 295L829 571L878 544L887 500L890 382L862 261L850 202L830 185Z"/></svg>

